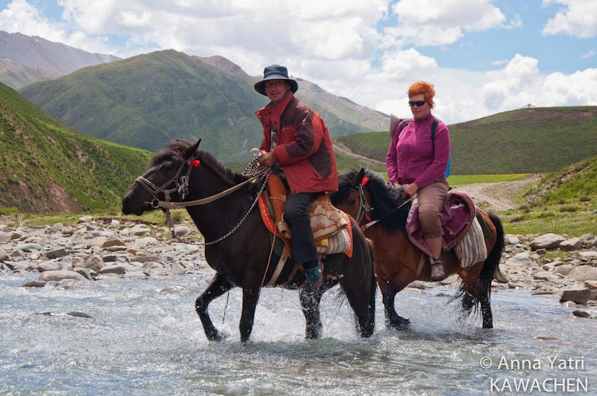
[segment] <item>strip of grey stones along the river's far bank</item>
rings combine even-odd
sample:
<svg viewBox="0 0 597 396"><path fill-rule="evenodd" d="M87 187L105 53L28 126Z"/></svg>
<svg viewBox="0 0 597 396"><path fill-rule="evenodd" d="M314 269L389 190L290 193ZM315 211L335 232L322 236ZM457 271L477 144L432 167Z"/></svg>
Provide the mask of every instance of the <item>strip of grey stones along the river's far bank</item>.
<svg viewBox="0 0 597 396"><path fill-rule="evenodd" d="M29 227L0 220L0 273L35 272L38 280L23 287L69 289L78 282L105 277L177 277L213 272L204 258L203 240L194 225L182 224L171 237L167 227L130 220L82 217L72 226L60 223ZM506 235L500 264L509 279L494 281L495 290L530 289L553 294L578 316L597 306L597 237L593 234ZM453 275L443 286L458 279ZM436 284L415 282L411 287ZM578 307L578 308L576 308Z"/></svg>

